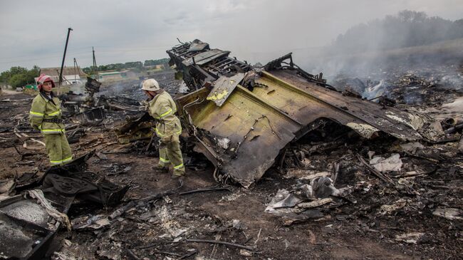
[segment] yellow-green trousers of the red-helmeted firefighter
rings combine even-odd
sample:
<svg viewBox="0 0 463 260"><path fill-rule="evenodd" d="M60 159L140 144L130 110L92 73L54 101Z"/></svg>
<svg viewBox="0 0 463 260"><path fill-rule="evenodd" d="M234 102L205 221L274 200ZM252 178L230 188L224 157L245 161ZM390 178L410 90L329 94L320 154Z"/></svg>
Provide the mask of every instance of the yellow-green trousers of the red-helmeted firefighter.
<svg viewBox="0 0 463 260"><path fill-rule="evenodd" d="M73 160L71 147L64 133L43 135L50 164L61 165Z"/></svg>

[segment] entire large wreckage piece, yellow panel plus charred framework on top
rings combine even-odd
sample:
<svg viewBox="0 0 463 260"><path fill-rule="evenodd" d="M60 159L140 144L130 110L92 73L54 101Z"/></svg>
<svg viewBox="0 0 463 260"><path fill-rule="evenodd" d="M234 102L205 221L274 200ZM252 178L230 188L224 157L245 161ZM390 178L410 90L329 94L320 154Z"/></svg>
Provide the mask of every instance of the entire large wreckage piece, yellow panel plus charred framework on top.
<svg viewBox="0 0 463 260"><path fill-rule="evenodd" d="M208 79L215 85L212 90L199 88L177 99L180 113L197 139L195 150L219 168L222 178L231 177L244 187L259 180L283 147L313 130L313 124L323 118L346 125L365 138L378 132L402 140L422 138L417 130L423 120L417 115L343 96L326 84L321 73L313 76L294 65L291 53L271 61L264 67L267 71L241 62L237 63L241 66L227 67L227 62L234 60L225 56L201 66L182 63L183 56L174 48L167 53L180 64L178 69L188 72L184 78L190 79L190 84L207 86ZM241 73L245 73L244 80L234 90L219 90L231 89L223 80L241 78Z"/></svg>

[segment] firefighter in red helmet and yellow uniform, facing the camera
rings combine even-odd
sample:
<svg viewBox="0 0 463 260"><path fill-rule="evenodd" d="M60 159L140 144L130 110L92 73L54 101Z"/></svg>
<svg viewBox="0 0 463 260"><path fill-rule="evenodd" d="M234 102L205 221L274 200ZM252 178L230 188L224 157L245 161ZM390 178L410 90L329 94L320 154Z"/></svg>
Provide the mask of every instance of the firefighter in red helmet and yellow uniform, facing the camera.
<svg viewBox="0 0 463 260"><path fill-rule="evenodd" d="M41 74L37 83L40 91L32 100L29 122L33 129L42 132L50 164L61 165L73 159L71 147L64 134L61 102L51 91L55 83L50 76Z"/></svg>

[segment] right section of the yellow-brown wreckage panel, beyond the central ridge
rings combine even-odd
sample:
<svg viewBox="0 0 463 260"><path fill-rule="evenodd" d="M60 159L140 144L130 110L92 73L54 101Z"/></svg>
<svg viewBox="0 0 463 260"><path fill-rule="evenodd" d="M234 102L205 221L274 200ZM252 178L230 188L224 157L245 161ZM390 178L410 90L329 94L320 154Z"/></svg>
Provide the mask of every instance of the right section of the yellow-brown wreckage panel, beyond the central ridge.
<svg viewBox="0 0 463 260"><path fill-rule="evenodd" d="M321 88L315 83L308 83L291 71L262 74L256 82L267 87L254 88L253 93L296 118L303 125L313 122L316 118L330 118L347 125L366 138L381 130L403 140L421 139L421 135L415 130L421 128L423 121L415 115L396 108L386 109L378 103Z"/></svg>

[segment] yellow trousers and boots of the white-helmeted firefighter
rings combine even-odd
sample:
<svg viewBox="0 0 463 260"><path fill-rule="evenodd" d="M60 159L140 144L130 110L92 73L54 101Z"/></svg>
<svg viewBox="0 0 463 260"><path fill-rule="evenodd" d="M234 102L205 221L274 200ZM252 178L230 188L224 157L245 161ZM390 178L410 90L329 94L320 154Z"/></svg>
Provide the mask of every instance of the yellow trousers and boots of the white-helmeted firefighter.
<svg viewBox="0 0 463 260"><path fill-rule="evenodd" d="M169 165L172 164L174 167L174 175L185 174L178 135L171 135L170 138L161 138L159 145L159 164L161 167L169 167Z"/></svg>

